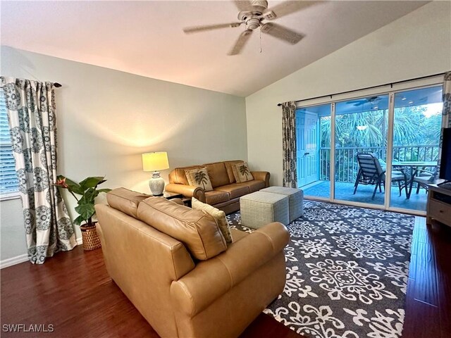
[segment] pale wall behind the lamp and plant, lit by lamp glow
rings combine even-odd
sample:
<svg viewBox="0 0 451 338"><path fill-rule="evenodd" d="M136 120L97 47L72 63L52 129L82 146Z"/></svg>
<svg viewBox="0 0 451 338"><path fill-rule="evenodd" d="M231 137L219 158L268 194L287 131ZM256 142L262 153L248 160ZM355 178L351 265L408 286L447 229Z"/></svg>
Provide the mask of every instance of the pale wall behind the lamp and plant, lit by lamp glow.
<svg viewBox="0 0 451 338"><path fill-rule="evenodd" d="M149 193L144 152L168 151L171 168L247 159L242 97L10 47L1 48L1 75L63 84L56 89L58 174L73 180L106 175L102 187ZM166 181L168 172L161 172ZM73 197L67 200L73 209ZM17 243L25 232L20 200L0 208L4 260L23 251Z"/></svg>

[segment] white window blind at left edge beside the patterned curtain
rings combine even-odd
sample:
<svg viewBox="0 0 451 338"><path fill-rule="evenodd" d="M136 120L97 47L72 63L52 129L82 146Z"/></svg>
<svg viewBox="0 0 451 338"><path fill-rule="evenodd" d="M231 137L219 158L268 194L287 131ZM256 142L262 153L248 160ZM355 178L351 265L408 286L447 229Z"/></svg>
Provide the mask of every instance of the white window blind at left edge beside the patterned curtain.
<svg viewBox="0 0 451 338"><path fill-rule="evenodd" d="M11 149L11 135L9 134L3 89L0 89L0 158L0 195L18 192L16 166L14 164L13 149Z"/></svg>

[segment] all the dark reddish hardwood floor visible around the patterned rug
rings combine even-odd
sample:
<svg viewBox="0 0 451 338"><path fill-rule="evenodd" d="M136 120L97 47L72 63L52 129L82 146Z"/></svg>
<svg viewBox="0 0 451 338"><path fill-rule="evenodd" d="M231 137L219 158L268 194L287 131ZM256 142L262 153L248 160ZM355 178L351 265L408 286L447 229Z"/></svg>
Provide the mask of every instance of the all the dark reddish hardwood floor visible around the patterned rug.
<svg viewBox="0 0 451 338"><path fill-rule="evenodd" d="M1 337L158 337L106 273L101 249L21 263L1 277ZM54 325L52 333L4 332L8 324ZM261 313L241 337L299 337ZM451 228L416 218L404 338L451 337Z"/></svg>

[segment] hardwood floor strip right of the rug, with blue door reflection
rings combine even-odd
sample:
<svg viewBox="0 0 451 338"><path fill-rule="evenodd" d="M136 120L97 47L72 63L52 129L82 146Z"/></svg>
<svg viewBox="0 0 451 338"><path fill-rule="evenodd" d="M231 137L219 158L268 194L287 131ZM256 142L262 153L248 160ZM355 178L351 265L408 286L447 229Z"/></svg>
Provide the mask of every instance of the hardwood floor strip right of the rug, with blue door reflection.
<svg viewBox="0 0 451 338"><path fill-rule="evenodd" d="M451 227L424 218L414 228L402 337L451 337Z"/></svg>

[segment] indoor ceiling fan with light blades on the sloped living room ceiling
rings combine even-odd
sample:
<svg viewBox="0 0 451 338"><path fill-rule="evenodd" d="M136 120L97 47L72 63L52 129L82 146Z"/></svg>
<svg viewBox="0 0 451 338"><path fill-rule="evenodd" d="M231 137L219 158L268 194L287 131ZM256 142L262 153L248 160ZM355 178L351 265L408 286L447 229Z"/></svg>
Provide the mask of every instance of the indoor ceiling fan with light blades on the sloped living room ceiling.
<svg viewBox="0 0 451 338"><path fill-rule="evenodd" d="M206 30L216 30L218 28L239 27L245 25L246 30L240 34L235 45L230 49L228 55L240 54L249 37L254 30L260 27L262 33L276 37L290 44L297 44L304 35L290 30L276 23L264 23L264 20L274 20L284 15L300 11L307 6L311 6L315 1L284 1L281 4L268 8L266 0L239 0L233 1L238 10L237 23L221 23L218 25L202 25L185 27L183 32L190 34L195 32L204 32Z"/></svg>

